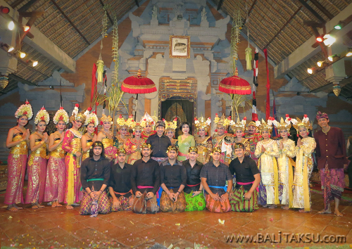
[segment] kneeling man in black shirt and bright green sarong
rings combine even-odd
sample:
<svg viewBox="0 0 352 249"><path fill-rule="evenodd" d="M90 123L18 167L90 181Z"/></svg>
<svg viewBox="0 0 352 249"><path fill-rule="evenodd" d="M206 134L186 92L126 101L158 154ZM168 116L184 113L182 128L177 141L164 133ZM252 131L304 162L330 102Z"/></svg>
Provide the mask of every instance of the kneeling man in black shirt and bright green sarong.
<svg viewBox="0 0 352 249"><path fill-rule="evenodd" d="M184 160L182 165L187 172L187 185L184 186L184 197L186 198L185 211L201 211L206 208L206 199L203 195L203 185L201 185L201 168L203 163L198 159L198 148L189 147L189 159Z"/></svg>

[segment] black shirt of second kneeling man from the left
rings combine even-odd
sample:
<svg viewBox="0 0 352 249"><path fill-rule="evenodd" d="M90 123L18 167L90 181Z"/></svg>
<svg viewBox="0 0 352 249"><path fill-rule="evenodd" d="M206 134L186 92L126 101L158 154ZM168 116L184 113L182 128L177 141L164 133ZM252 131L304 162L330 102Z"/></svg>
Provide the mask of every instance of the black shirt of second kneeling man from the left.
<svg viewBox="0 0 352 249"><path fill-rule="evenodd" d="M127 193L132 189L131 185L131 174L133 166L125 163L122 169L118 163L111 165L110 180L108 186L113 188L113 191L118 193L126 193L125 198L129 198L132 193ZM120 195L115 193L116 197Z"/></svg>

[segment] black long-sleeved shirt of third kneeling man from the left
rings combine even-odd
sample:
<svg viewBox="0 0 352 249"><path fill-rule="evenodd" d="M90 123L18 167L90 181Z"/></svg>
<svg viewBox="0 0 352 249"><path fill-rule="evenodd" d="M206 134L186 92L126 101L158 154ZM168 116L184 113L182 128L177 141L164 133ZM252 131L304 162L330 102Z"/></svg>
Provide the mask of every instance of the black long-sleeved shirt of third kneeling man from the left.
<svg viewBox="0 0 352 249"><path fill-rule="evenodd" d="M149 159L147 162L144 162L143 159L139 159L134 162L133 166L131 175L133 193L135 194L137 192L137 186L153 186L153 188L138 189L138 191L141 193L147 191L156 194L160 187L159 163L153 159Z"/></svg>

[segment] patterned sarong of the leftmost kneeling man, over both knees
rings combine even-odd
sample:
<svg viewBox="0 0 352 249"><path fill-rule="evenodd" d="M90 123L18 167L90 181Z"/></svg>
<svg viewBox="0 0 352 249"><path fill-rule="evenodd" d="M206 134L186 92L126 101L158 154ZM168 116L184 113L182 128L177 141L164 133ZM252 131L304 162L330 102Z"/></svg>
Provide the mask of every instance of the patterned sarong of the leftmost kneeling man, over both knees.
<svg viewBox="0 0 352 249"><path fill-rule="evenodd" d="M92 198L89 196L89 194L86 191L84 191L82 202L81 202L80 215L91 215L92 206L93 206ZM106 191L103 191L103 193L101 193L98 199L98 213L101 215L105 215L109 211L110 211L110 206L108 201L108 195L106 194Z"/></svg>

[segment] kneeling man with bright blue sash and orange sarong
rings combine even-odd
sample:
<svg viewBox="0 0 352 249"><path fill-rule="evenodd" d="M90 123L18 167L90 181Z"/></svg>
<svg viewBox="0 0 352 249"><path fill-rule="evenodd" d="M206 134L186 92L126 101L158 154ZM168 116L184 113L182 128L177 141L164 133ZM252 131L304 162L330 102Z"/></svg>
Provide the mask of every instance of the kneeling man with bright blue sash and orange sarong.
<svg viewBox="0 0 352 249"><path fill-rule="evenodd" d="M229 212L232 174L229 167L220 162L221 148L213 148L211 156L213 161L208 162L201 169L201 184L206 190L206 208L210 212Z"/></svg>

